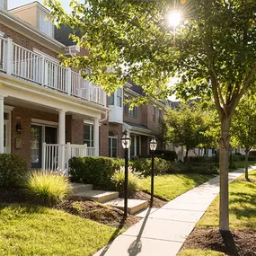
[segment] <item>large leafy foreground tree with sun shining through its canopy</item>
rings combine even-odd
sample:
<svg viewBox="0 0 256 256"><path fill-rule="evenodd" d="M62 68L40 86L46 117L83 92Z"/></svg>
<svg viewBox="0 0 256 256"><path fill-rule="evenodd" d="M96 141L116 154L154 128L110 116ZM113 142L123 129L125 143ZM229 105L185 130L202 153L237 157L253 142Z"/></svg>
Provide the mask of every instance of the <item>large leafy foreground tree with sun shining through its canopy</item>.
<svg viewBox="0 0 256 256"><path fill-rule="evenodd" d="M256 1L84 0L71 1L69 14L57 1L47 2L57 23L73 28L72 38L90 53L64 64L108 92L131 79L145 92L138 102L172 92L214 98L221 123L219 228L229 230L230 127L243 94L255 85ZM180 10L183 22L170 29L167 13L173 9ZM90 75L84 71L88 66ZM166 84L171 76L180 78L173 88Z"/></svg>

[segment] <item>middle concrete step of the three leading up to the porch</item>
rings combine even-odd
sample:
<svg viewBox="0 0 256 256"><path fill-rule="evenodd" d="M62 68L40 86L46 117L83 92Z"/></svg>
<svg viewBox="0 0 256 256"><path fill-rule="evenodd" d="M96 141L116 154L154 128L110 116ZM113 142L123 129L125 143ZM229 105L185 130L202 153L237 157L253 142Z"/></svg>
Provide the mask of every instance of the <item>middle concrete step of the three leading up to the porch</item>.
<svg viewBox="0 0 256 256"><path fill-rule="evenodd" d="M112 199L118 199L119 192L110 192L102 190L84 190L75 192L72 197L73 199L89 199L99 203L105 203Z"/></svg>

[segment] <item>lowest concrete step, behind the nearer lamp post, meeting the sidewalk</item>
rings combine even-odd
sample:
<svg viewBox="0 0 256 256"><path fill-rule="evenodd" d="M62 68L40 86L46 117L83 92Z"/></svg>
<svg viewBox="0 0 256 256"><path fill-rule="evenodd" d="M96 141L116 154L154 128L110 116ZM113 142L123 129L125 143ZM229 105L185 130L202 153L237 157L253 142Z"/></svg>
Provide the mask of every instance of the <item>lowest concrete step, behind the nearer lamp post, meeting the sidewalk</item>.
<svg viewBox="0 0 256 256"><path fill-rule="evenodd" d="M146 200L139 200L139 199L128 199L128 213L135 214L142 209L147 207L148 202ZM109 202L106 202L104 205L117 207L121 210L124 209L124 199L113 199Z"/></svg>

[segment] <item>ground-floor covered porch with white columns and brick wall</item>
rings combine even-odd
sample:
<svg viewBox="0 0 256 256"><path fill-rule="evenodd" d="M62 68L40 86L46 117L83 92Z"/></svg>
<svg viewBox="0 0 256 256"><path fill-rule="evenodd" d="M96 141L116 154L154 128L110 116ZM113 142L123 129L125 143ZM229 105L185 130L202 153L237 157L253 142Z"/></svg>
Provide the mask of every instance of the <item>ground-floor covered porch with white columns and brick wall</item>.
<svg viewBox="0 0 256 256"><path fill-rule="evenodd" d="M101 112L66 107L1 95L0 154L20 154L31 168L59 172L68 172L73 156L98 156ZM93 146L84 140L84 122L93 128Z"/></svg>

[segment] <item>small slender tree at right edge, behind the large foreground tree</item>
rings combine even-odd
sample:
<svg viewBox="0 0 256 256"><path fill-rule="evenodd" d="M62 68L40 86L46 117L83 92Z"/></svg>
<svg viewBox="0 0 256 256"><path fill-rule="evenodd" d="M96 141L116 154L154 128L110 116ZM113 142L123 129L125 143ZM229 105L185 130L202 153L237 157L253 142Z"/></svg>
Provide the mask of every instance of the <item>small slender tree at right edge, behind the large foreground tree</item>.
<svg viewBox="0 0 256 256"><path fill-rule="evenodd" d="M256 99L255 95L246 95L239 102L232 120L231 134L234 146L245 148L245 179L248 177L248 155L253 146L256 146Z"/></svg>

